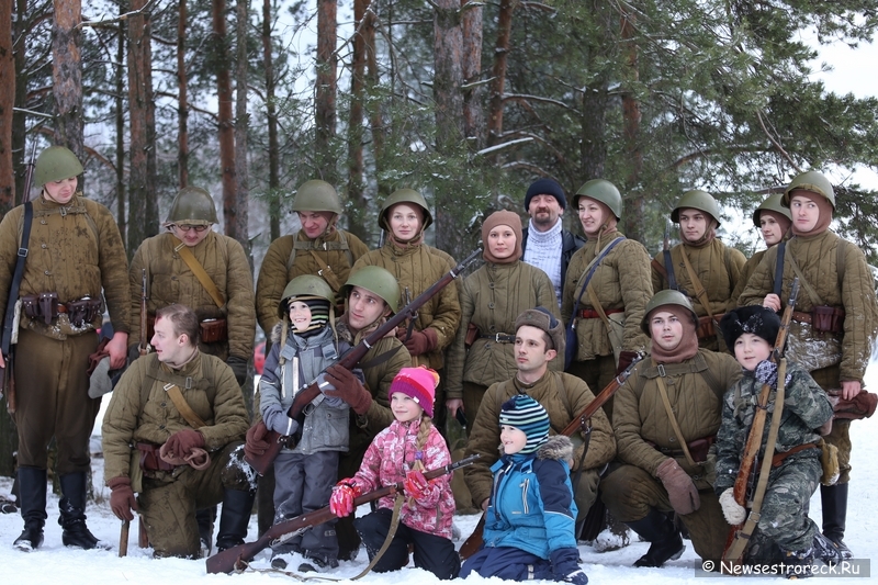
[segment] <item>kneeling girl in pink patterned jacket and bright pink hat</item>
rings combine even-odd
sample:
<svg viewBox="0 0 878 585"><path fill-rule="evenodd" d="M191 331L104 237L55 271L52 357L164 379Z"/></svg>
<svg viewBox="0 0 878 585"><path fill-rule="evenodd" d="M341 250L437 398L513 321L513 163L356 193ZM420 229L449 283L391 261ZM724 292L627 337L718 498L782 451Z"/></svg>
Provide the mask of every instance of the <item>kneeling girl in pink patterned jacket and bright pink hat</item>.
<svg viewBox="0 0 878 585"><path fill-rule="evenodd" d="M451 476L430 480L424 471L451 463L451 453L432 425L434 400L439 374L425 367L403 368L390 387L391 409L396 418L379 432L363 455L360 471L341 480L333 491L329 507L336 516L353 511L353 499L385 485L403 482L406 500L399 525L384 555L374 566L379 573L408 564L408 545L415 550L415 566L450 580L460 572L460 558L451 542L454 495ZM395 496L379 499L378 510L354 520L371 561L384 544L391 527Z"/></svg>

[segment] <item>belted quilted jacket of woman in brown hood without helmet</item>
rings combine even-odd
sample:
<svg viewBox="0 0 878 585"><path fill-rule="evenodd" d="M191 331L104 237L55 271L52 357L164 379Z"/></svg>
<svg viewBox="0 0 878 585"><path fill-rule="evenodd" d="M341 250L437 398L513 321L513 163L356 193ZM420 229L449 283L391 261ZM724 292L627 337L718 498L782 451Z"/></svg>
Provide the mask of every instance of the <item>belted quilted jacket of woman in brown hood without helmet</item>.
<svg viewBox="0 0 878 585"><path fill-rule="evenodd" d="M525 310L544 306L560 318L554 288L545 272L521 260L508 265L486 263L466 277L461 293L461 326L448 349L446 396L463 397L463 382L489 386L516 374L515 344L476 339L466 349L466 325L480 335L515 335L515 319ZM550 368L563 369L563 359Z"/></svg>

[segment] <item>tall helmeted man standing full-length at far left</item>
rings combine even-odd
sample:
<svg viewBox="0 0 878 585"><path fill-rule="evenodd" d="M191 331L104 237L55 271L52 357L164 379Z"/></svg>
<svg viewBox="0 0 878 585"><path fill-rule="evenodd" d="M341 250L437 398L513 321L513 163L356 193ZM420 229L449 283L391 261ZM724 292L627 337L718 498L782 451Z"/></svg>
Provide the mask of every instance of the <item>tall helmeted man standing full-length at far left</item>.
<svg viewBox="0 0 878 585"><path fill-rule="evenodd" d="M110 367L125 364L130 330L127 260L110 211L77 189L82 165L63 146L41 153L34 180L42 188L33 202L10 211L0 223L0 320L13 280L19 249L30 251L19 289L22 303L14 350L19 431L20 507L24 531L15 548L43 543L46 520L46 446L55 437L58 453L61 540L81 549L109 548L86 526L89 437L101 401L88 396L86 370L98 347L104 303L114 335L106 346ZM32 218L31 218L32 216ZM30 228L26 244L20 241ZM4 364L0 357L0 365Z"/></svg>

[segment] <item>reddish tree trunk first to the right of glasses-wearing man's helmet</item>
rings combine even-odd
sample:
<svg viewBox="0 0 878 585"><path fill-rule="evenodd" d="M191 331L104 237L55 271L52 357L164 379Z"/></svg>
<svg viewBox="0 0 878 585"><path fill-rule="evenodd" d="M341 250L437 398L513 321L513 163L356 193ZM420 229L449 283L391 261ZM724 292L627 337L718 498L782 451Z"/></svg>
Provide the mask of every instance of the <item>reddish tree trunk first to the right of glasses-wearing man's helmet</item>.
<svg viewBox="0 0 878 585"><path fill-rule="evenodd" d="M213 36L216 44L216 100L219 122L219 165L223 177L225 234L237 238L235 210L235 121L232 117L232 76L226 35L226 2L213 0Z"/></svg>

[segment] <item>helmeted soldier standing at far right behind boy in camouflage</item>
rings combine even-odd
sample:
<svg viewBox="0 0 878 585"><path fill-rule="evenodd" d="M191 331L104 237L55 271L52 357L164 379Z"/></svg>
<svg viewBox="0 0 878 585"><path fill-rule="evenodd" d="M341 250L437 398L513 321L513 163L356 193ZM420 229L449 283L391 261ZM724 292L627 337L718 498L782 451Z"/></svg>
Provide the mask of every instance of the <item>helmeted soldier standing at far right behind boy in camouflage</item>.
<svg viewBox="0 0 878 585"><path fill-rule="evenodd" d="M741 294L742 305L761 304L775 311L789 299L792 279L801 290L787 337L787 358L803 365L825 391L851 400L863 390L863 376L878 335L878 301L866 257L859 247L829 227L835 191L821 172L797 175L784 191L790 210L788 241L768 249ZM780 279L776 279L781 274ZM847 493L851 480L849 420L833 421L828 443L838 449L841 476L821 485L823 535L845 558Z"/></svg>

